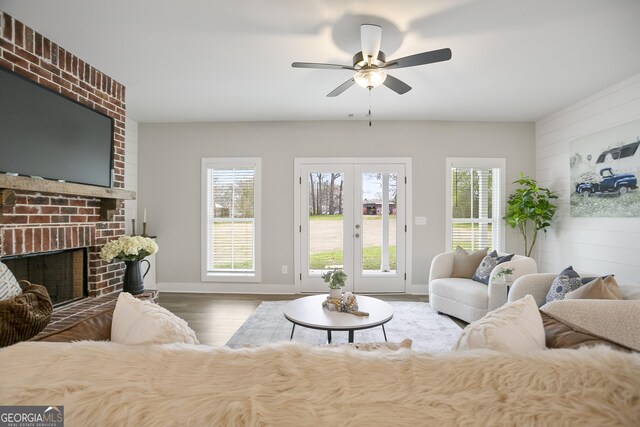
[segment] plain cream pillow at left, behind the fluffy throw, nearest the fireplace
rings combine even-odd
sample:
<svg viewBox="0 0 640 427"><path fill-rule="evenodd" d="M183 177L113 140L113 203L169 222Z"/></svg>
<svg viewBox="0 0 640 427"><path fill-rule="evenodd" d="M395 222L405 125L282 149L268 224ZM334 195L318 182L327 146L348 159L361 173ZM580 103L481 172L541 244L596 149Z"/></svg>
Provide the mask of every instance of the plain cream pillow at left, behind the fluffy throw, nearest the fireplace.
<svg viewBox="0 0 640 427"><path fill-rule="evenodd" d="M127 292L113 310L111 341L120 344L199 344L187 322L166 308Z"/></svg>

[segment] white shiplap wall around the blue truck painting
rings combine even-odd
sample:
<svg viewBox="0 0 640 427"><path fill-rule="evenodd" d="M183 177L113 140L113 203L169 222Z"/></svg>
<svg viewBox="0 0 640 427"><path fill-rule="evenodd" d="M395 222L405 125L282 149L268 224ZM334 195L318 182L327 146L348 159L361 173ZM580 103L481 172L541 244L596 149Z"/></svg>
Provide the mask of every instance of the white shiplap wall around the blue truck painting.
<svg viewBox="0 0 640 427"><path fill-rule="evenodd" d="M572 218L569 196L571 141L640 118L640 74L536 123L536 177L560 194L560 209L538 243L538 268L640 279L640 218Z"/></svg>

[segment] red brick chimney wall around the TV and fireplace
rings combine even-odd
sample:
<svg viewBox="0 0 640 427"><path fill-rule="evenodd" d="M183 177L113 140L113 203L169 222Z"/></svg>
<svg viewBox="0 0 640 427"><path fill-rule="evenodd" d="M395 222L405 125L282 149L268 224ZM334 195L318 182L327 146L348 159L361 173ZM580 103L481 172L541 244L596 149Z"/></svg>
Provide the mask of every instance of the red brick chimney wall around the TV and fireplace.
<svg viewBox="0 0 640 427"><path fill-rule="evenodd" d="M25 76L114 119L113 186L124 188L125 88L42 34L0 11L0 67ZM99 259L108 240L124 234L124 209L100 221L100 201L16 191L0 215L0 256L88 247L89 294L122 288L124 264Z"/></svg>

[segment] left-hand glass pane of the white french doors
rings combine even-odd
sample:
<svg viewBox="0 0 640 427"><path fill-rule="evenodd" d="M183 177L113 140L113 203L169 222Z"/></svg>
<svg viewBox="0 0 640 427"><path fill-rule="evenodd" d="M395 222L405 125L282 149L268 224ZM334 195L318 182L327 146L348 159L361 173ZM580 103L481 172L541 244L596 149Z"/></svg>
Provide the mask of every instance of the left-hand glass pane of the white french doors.
<svg viewBox="0 0 640 427"><path fill-rule="evenodd" d="M343 174L311 172L309 191L309 272L344 266Z"/></svg>

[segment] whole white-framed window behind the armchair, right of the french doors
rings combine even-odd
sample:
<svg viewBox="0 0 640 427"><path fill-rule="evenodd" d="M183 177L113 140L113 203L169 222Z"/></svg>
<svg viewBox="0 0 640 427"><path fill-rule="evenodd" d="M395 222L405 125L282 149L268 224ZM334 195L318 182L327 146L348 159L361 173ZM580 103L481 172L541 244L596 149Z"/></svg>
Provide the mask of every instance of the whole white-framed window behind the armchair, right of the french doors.
<svg viewBox="0 0 640 427"><path fill-rule="evenodd" d="M447 248L504 251L505 159L447 158Z"/></svg>

